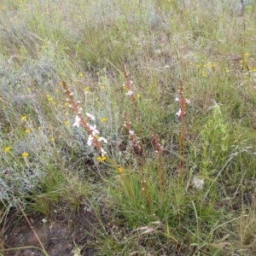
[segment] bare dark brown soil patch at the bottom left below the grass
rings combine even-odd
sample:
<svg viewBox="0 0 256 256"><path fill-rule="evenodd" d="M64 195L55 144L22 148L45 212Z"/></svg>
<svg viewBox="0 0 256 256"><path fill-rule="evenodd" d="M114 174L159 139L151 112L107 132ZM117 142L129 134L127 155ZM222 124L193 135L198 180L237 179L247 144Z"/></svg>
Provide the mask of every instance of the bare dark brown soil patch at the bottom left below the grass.
<svg viewBox="0 0 256 256"><path fill-rule="evenodd" d="M48 218L42 215L27 216L32 223L32 229L43 243L45 251L50 256L94 256L96 250L92 248L94 242L94 228L96 218L86 209L72 213L61 209L53 209ZM46 221L46 222L45 222ZM28 247L5 252L5 256L30 256L44 253L37 237L24 217L12 217L9 228L4 231L4 248ZM0 248L1 252L1 248ZM3 255L3 254L0 254Z"/></svg>

